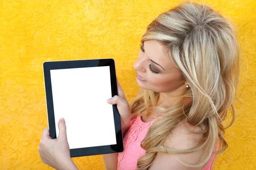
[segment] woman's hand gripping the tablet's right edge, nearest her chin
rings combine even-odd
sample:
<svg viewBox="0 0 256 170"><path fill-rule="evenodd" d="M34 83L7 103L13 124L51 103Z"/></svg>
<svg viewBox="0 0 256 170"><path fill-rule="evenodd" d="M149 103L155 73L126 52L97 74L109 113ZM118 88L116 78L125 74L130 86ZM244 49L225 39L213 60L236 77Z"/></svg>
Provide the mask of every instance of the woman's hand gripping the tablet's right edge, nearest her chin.
<svg viewBox="0 0 256 170"><path fill-rule="evenodd" d="M121 117L122 133L124 134L125 131L130 127L131 109L125 98L125 94L121 88L121 85L118 82L118 79L116 79L116 83L118 96L113 96L112 98L108 99L107 102L111 105L117 105L117 109Z"/></svg>

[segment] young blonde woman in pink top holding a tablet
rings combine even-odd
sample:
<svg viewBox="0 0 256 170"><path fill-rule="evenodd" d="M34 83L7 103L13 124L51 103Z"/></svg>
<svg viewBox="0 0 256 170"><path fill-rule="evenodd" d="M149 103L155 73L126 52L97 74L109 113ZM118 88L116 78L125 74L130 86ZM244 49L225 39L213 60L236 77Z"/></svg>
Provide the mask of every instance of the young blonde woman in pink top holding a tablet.
<svg viewBox="0 0 256 170"><path fill-rule="evenodd" d="M210 7L183 3L160 14L141 39L134 63L142 88L128 105L118 83L124 151L103 155L107 170L210 170L223 139L227 113L236 116L239 45L233 26ZM118 81L117 81L118 82ZM63 119L62 119L63 120ZM38 147L44 163L77 169L66 126Z"/></svg>

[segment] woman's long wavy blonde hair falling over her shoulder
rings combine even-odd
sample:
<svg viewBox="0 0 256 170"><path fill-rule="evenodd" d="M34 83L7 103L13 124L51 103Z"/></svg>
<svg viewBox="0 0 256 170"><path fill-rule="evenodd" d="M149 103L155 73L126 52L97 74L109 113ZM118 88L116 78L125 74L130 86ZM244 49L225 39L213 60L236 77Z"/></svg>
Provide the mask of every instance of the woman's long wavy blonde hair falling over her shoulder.
<svg viewBox="0 0 256 170"><path fill-rule="evenodd" d="M239 45L234 26L212 8L197 3L182 3L154 19L141 39L157 40L190 88L180 96L175 106L165 109L156 106L159 93L142 90L131 102L132 118L161 115L141 142L146 153L137 161L138 170L147 170L157 152L191 153L207 146L202 161L188 167L206 164L219 142L222 153L228 144L224 129L233 125L236 117L236 91L240 77ZM232 121L224 127L230 112ZM195 147L176 150L163 145L166 137L181 120L203 129L204 139ZM192 132L195 133L195 132Z"/></svg>

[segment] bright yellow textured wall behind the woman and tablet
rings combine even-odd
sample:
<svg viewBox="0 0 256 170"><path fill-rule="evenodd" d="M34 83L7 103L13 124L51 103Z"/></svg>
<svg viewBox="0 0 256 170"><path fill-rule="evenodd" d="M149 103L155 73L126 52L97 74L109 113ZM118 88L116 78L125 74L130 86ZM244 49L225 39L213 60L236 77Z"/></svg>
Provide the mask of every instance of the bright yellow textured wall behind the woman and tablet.
<svg viewBox="0 0 256 170"><path fill-rule="evenodd" d="M180 0L0 0L0 170L46 170L37 146L47 127L42 63L113 58L131 99L132 66L146 26ZM195 1L201 3L201 1ZM230 147L214 170L256 169L256 0L205 0L237 25L248 58L243 110L227 130ZM243 111L241 113L241 111ZM102 156L74 158L84 170L103 170Z"/></svg>

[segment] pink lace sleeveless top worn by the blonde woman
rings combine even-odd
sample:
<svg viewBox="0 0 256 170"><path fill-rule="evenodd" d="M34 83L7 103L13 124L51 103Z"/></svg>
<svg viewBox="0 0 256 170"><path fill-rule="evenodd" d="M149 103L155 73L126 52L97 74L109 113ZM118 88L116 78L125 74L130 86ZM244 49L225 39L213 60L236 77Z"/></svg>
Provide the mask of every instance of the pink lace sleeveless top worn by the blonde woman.
<svg viewBox="0 0 256 170"><path fill-rule="evenodd" d="M145 150L140 147L140 142L145 138L150 125L155 122L143 122L140 116L131 120L131 127L125 133L124 151L118 154L118 170L135 170L137 168L137 160L143 156ZM218 145L216 145L215 150ZM207 165L202 170L211 170L215 154L212 154Z"/></svg>

